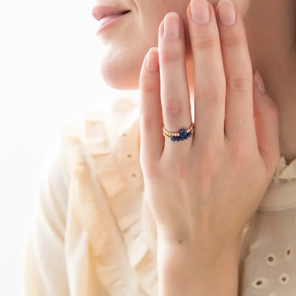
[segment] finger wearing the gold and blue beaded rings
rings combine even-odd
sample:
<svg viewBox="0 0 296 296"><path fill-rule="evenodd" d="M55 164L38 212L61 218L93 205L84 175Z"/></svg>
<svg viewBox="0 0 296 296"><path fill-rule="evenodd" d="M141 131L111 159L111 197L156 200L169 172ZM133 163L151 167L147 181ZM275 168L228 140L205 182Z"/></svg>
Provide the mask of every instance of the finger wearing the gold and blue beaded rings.
<svg viewBox="0 0 296 296"><path fill-rule="evenodd" d="M185 33L179 15L168 13L161 22L158 33L163 123L169 132L179 133L181 129L188 129L192 122L185 64ZM166 139L164 149L180 152L182 148L191 147L191 143L191 137L179 143Z"/></svg>

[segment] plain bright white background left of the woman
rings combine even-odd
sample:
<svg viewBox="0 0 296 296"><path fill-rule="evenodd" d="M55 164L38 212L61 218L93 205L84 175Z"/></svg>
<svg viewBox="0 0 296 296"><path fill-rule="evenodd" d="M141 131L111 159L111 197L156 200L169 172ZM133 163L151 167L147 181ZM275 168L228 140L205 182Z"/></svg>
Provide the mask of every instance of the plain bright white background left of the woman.
<svg viewBox="0 0 296 296"><path fill-rule="evenodd" d="M112 92L99 77L94 5L0 1L1 296L20 292L23 245L46 148L68 116Z"/></svg>

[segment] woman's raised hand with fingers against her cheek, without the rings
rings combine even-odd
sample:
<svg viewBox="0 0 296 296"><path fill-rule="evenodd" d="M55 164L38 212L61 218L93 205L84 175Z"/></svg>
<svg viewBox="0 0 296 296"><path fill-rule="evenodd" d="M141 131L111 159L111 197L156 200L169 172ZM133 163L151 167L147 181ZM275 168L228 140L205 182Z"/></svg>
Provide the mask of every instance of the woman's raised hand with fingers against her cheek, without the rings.
<svg viewBox="0 0 296 296"><path fill-rule="evenodd" d="M232 2L222 0L216 9L207 1L194 4L187 9L194 120L184 25L170 13L140 75L140 157L158 243L210 257L239 246L269 185L280 160L278 113L263 85L253 85L243 20ZM190 138L164 138L163 126L178 133L191 121Z"/></svg>

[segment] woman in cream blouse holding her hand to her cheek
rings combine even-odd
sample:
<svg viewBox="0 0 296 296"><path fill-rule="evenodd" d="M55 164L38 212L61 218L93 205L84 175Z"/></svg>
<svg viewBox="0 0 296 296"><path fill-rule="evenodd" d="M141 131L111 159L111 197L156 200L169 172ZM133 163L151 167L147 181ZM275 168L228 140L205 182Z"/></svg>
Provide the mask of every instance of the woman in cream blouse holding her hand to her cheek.
<svg viewBox="0 0 296 296"><path fill-rule="evenodd" d="M129 11L102 75L140 98L65 128L26 295L296 294L296 1L218 2L99 1Z"/></svg>

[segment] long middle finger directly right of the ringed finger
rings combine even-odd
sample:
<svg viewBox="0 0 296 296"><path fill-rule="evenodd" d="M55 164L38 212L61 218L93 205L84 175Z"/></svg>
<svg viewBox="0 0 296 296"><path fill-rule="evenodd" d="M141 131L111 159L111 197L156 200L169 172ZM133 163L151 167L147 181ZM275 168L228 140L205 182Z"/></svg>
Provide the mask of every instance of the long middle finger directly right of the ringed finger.
<svg viewBox="0 0 296 296"><path fill-rule="evenodd" d="M212 146L224 141L226 82L215 9L207 0L191 0L187 19L194 66L195 137ZM210 143L208 143L210 141Z"/></svg>

